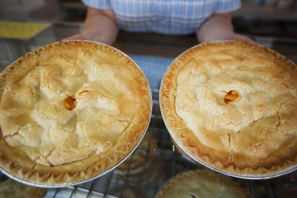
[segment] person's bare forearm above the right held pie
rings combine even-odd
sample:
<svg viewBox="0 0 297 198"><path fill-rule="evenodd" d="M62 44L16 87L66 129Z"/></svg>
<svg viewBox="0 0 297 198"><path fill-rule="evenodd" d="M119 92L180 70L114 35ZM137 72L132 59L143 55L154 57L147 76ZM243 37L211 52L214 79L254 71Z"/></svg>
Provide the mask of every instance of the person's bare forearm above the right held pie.
<svg viewBox="0 0 297 198"><path fill-rule="evenodd" d="M231 14L213 14L197 32L199 42L216 40L219 35L234 33Z"/></svg>

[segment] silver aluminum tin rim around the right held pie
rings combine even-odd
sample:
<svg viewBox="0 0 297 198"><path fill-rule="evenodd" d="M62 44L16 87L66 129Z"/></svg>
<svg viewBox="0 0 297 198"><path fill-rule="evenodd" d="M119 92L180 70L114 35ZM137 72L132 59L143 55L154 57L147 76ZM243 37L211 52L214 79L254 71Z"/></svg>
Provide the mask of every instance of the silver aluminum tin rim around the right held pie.
<svg viewBox="0 0 297 198"><path fill-rule="evenodd" d="M210 41L211 43L225 43L225 42L232 42L234 40L218 40L218 41ZM271 179L271 178L274 178L274 177L279 177L279 176L282 176L282 175L285 175L285 174L288 174L288 173L291 173L295 170L297 170L297 164L296 165L293 165L293 166L290 166L290 167L287 167L285 169L282 169L282 170L279 170L277 172L273 172L271 174L236 174L236 173L231 173L229 171L223 171L223 170L219 170L219 169L216 169L216 168L213 168L212 166L210 166L208 163L194 157L187 149L185 149L183 147L183 145L179 142L179 140L174 136L173 132L170 130L170 126L168 125L168 123L166 122L166 119L164 117L164 113L163 113L163 109L162 109L162 100L161 100L161 90L162 90L162 87L163 87L163 82L164 82L164 78L165 78L165 75L166 73L169 71L171 65L180 57L182 56L183 54L187 53L190 49L193 49L193 48L196 48L197 46L199 45L204 45L206 42L204 43L200 43L198 45L195 45L189 49L187 49L186 51L184 51L182 54L180 54L178 57L176 57L170 64L170 66L167 68L164 76L163 76L163 79L161 81L161 86L160 86L160 93L159 93L159 101L160 101L160 109L161 109L161 114L162 114L162 118L164 120L164 123L166 125L166 128L167 130L169 131L169 134L170 136L172 137L172 139L175 141L175 143L180 147L179 149L182 149L182 151L184 152L183 154L186 155L186 157L192 159L193 161L195 162L198 162L200 164L202 164L203 166L206 166L207 168L211 169L211 170L214 170L216 172L219 172L221 174L224 174L224 175L227 175L227 176L231 176L231 177L236 177L236 178L241 178L241 179L254 179L254 180L259 180L259 179ZM251 43L253 45L258 45L258 44L255 44L255 43ZM258 45L258 46L261 46L261 47L265 47L265 46L262 46L262 45ZM270 48L269 48L270 49ZM270 49L271 51L275 52L273 49ZM283 56L285 57L285 56ZM291 60L290 60L291 61ZM292 62L292 61L291 61ZM294 62L292 62L294 63Z"/></svg>

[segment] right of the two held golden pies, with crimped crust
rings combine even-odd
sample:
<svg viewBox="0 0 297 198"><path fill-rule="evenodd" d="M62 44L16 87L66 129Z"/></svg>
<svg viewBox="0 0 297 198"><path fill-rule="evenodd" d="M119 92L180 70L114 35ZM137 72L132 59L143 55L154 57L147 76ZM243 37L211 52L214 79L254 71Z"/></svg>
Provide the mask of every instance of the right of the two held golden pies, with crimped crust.
<svg viewBox="0 0 297 198"><path fill-rule="evenodd" d="M297 164L297 65L243 41L205 43L166 71L160 105L193 158L230 174L277 174Z"/></svg>

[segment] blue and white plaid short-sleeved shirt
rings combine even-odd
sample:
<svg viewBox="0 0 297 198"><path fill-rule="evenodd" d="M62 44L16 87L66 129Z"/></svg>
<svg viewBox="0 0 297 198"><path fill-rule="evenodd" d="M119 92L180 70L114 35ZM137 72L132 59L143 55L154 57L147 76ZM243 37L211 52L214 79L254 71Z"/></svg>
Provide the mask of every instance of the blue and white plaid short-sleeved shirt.
<svg viewBox="0 0 297 198"><path fill-rule="evenodd" d="M163 34L196 33L213 13L239 9L240 0L82 0L97 9L112 9L118 28Z"/></svg>

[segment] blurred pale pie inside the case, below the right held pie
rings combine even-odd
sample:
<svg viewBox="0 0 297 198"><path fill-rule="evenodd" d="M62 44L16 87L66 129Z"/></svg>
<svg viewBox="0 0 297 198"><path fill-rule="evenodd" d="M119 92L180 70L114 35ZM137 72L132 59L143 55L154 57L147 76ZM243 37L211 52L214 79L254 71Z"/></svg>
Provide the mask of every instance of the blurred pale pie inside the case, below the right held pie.
<svg viewBox="0 0 297 198"><path fill-rule="evenodd" d="M168 180L157 198L252 197L238 182L210 170L191 170Z"/></svg>

